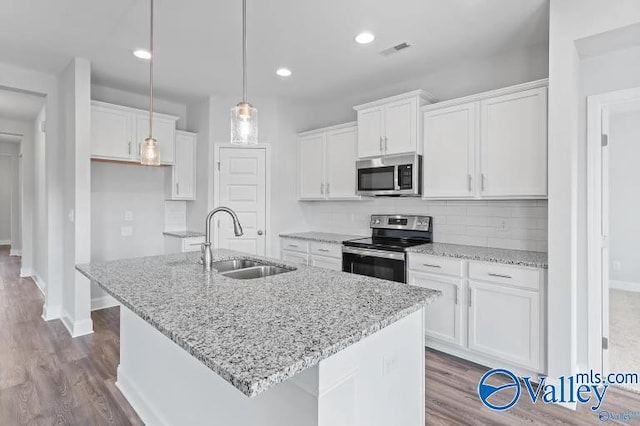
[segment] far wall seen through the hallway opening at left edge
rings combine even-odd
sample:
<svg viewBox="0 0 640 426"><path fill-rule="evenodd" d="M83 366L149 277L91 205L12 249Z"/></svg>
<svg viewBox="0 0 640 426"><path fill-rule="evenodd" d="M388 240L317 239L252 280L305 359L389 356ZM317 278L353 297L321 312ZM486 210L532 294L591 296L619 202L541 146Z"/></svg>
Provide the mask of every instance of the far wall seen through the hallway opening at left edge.
<svg viewBox="0 0 640 426"><path fill-rule="evenodd" d="M20 249L20 144L0 142L0 242Z"/></svg>

